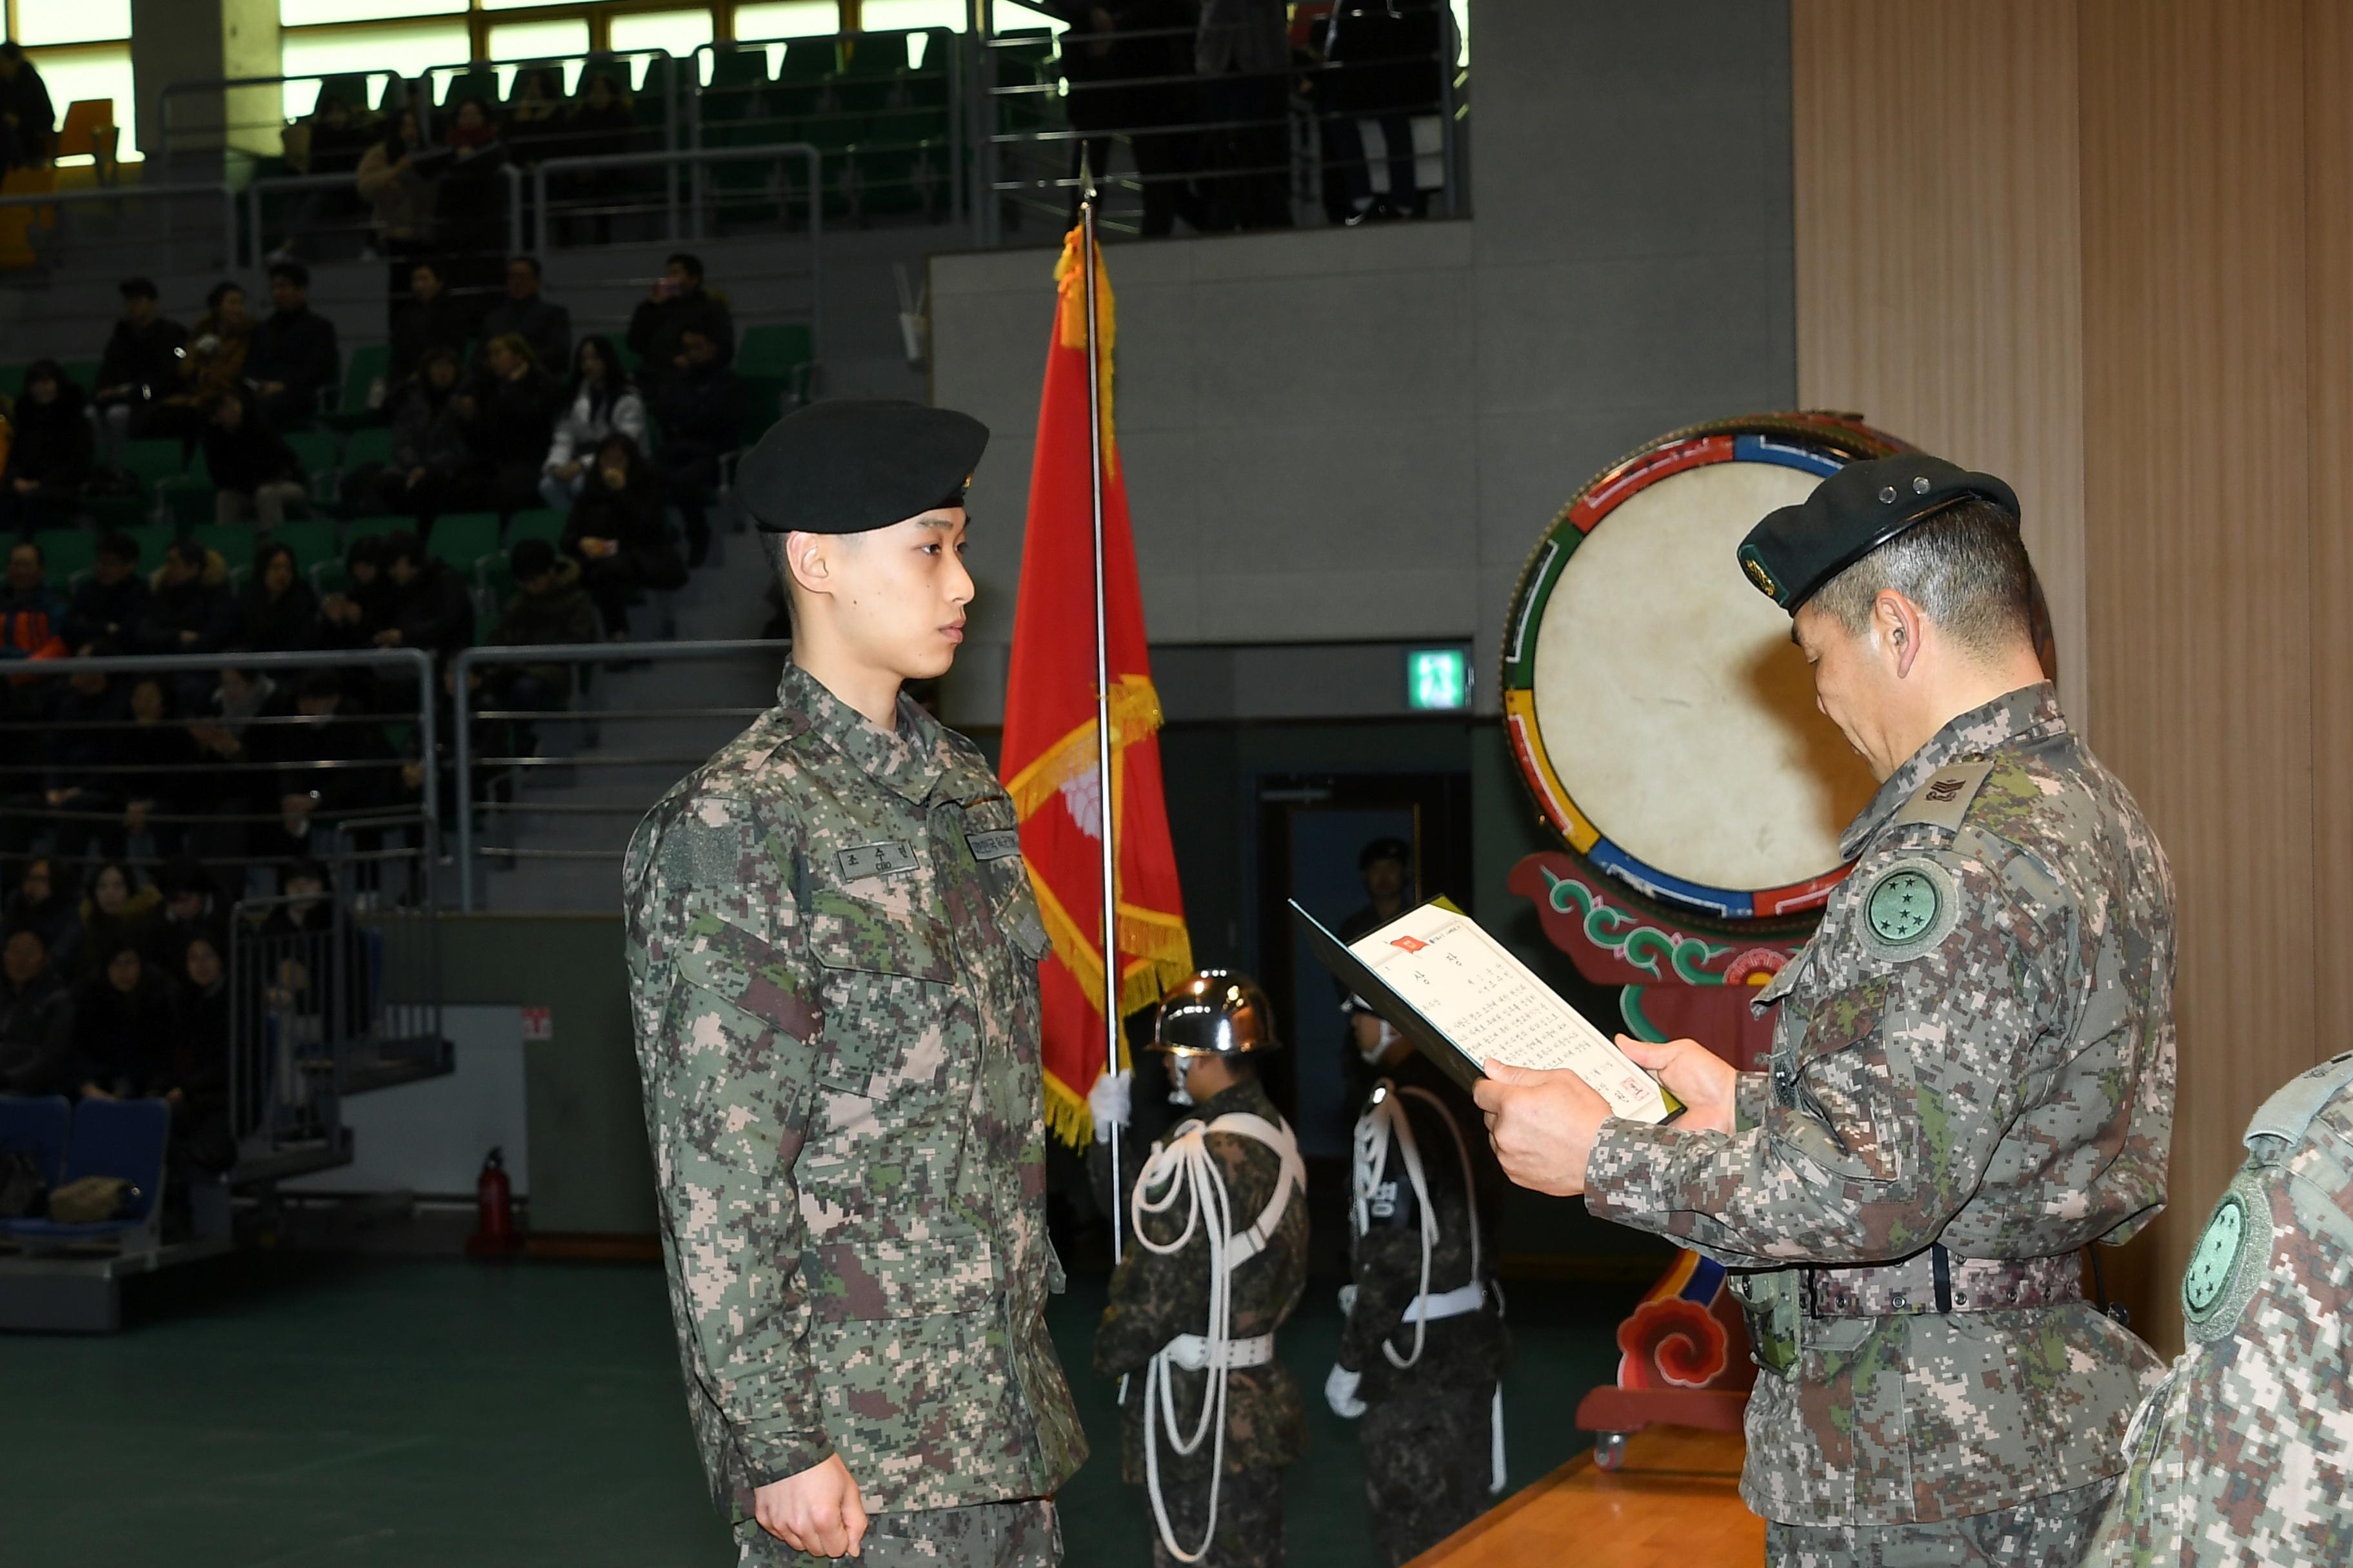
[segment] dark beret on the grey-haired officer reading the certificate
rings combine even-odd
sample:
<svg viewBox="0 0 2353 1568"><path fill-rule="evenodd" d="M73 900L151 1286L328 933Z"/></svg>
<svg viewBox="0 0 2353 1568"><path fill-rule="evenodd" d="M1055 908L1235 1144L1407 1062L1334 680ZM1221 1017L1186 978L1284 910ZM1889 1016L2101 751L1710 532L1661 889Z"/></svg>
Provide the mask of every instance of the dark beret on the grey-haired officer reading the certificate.
<svg viewBox="0 0 2353 1568"><path fill-rule="evenodd" d="M2019 498L1991 473L1906 451L1868 463L1847 463L1814 487L1798 505L1765 515L1741 541L1741 571L1767 599L1798 607L1833 576L1864 559L1889 538L1962 501L1991 501L2012 517Z"/></svg>

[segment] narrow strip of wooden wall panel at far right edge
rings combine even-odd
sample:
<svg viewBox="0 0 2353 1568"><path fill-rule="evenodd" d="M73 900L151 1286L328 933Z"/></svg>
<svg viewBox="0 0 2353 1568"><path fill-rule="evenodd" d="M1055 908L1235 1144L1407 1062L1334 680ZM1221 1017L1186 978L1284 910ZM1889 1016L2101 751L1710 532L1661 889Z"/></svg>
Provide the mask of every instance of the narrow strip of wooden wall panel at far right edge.
<svg viewBox="0 0 2353 1568"><path fill-rule="evenodd" d="M2353 7L2304 9L2306 386L2313 465L2313 1016L2315 1058L2353 1051Z"/></svg>

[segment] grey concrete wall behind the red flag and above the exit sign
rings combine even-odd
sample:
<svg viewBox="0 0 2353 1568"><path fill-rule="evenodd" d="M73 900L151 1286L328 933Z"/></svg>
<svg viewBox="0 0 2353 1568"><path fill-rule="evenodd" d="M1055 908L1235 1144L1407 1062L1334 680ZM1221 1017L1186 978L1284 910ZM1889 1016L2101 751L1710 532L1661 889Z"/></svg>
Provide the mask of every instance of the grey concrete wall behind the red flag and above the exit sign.
<svg viewBox="0 0 2353 1568"><path fill-rule="evenodd" d="M1111 252L1151 635L1475 637L1492 668L1579 484L1673 425L1795 400L1788 127L1781 7L1489 0L1475 219ZM932 397L995 430L948 693L967 724L1002 710L1052 261L929 268Z"/></svg>

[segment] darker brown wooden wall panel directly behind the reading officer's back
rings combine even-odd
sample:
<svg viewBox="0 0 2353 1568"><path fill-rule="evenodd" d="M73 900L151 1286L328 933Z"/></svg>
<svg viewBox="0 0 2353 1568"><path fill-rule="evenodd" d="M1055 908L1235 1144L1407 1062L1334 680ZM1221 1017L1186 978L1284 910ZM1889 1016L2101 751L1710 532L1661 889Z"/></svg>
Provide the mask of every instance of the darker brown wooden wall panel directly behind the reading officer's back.
<svg viewBox="0 0 2353 1568"><path fill-rule="evenodd" d="M2181 1088L2139 1326L2315 1037L2301 0L2085 0L2092 738L2172 853ZM2332 259L2329 266L2341 266ZM2329 607L2334 614L2334 607ZM2332 938L2334 943L2334 938Z"/></svg>

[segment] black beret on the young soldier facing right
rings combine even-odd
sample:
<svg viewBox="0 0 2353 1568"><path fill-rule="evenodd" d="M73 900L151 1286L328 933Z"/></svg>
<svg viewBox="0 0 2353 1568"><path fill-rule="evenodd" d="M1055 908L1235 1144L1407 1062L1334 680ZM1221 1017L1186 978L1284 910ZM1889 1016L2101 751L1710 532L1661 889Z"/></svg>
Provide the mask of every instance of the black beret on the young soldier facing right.
<svg viewBox="0 0 2353 1568"><path fill-rule="evenodd" d="M866 534L962 505L988 425L920 402L835 397L779 418L736 465L765 534Z"/></svg>

